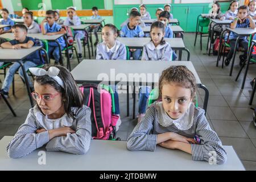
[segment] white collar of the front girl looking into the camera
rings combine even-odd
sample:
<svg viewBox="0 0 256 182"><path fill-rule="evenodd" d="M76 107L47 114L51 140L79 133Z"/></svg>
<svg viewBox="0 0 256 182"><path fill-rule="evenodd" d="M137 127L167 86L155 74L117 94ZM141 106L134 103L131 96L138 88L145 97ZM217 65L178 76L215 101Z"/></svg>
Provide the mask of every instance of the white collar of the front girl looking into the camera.
<svg viewBox="0 0 256 182"><path fill-rule="evenodd" d="M191 102L188 110L179 119L172 119L163 108L163 102L156 102L156 110L158 110L158 122L163 127L174 124L179 130L188 130L193 125L195 105Z"/></svg>

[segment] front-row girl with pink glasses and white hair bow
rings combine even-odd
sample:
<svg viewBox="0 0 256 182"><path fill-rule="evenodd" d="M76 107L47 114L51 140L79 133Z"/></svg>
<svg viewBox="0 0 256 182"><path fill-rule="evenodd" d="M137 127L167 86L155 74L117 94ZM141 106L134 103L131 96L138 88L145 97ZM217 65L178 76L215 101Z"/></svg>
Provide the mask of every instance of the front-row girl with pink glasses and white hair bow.
<svg viewBox="0 0 256 182"><path fill-rule="evenodd" d="M21 158L46 144L47 151L85 154L90 147L92 123L90 108L71 73L64 67L30 68L35 75L32 97L36 105L6 151Z"/></svg>

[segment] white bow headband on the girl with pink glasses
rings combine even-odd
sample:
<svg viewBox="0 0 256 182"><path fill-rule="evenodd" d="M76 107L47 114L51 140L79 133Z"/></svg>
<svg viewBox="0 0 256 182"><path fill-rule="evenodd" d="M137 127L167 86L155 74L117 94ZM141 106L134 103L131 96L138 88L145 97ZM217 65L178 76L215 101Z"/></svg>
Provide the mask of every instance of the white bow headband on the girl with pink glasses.
<svg viewBox="0 0 256 182"><path fill-rule="evenodd" d="M63 81L59 76L60 69L57 67L49 67L48 71L42 68L29 68L30 72L35 76L44 76L47 75L55 80L62 88L64 88Z"/></svg>

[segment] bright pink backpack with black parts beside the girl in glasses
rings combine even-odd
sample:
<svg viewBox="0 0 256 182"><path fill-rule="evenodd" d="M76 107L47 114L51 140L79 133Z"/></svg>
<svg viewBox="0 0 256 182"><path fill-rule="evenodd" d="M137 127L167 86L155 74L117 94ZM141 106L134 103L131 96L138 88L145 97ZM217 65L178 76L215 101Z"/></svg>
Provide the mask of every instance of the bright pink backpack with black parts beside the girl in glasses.
<svg viewBox="0 0 256 182"><path fill-rule="evenodd" d="M83 84L80 90L84 94L84 105L92 111L93 139L115 139L115 126L119 117L112 114L111 94L104 88L100 88L99 93L97 84Z"/></svg>

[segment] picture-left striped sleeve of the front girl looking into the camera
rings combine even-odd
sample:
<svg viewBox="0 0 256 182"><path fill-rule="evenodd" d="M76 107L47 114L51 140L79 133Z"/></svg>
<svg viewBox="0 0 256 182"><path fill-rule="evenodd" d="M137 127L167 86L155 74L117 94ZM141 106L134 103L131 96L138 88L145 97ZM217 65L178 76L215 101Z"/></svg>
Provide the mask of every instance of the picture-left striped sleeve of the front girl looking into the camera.
<svg viewBox="0 0 256 182"><path fill-rule="evenodd" d="M145 117L135 126L133 132L130 134L127 140L128 150L155 151L157 135L151 134L154 127L154 115L154 105L151 105L148 107Z"/></svg>

